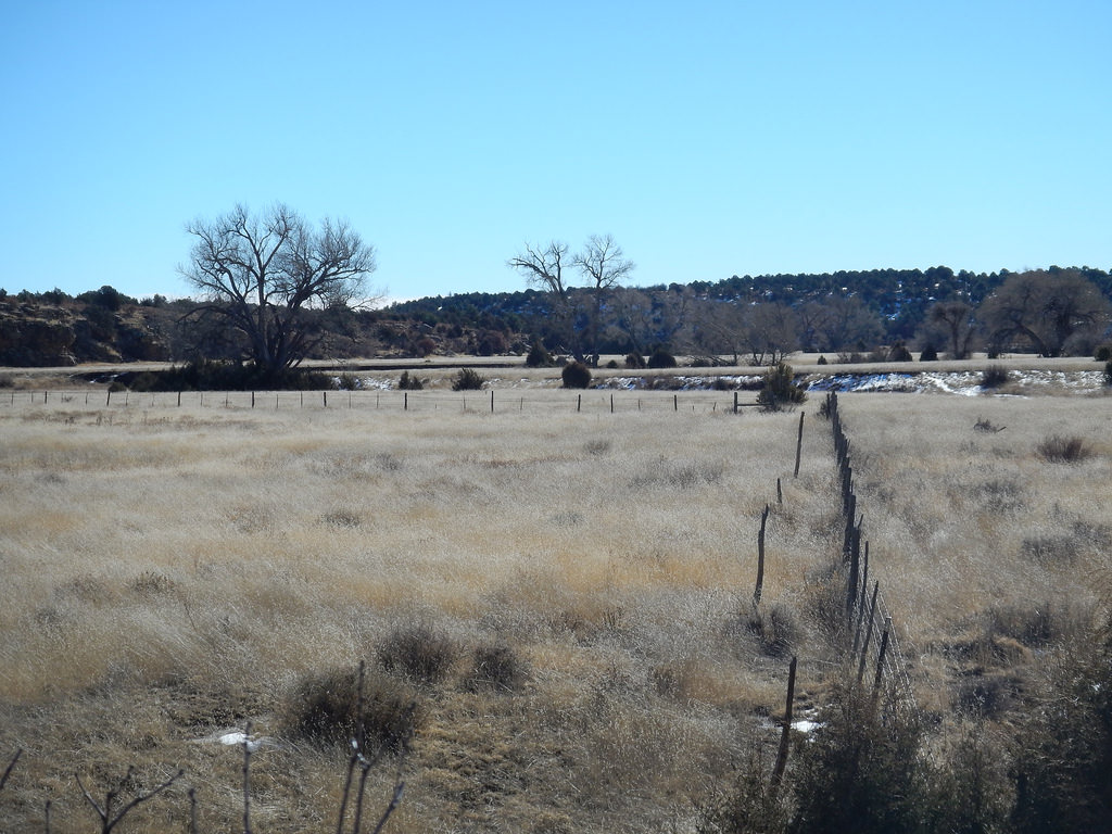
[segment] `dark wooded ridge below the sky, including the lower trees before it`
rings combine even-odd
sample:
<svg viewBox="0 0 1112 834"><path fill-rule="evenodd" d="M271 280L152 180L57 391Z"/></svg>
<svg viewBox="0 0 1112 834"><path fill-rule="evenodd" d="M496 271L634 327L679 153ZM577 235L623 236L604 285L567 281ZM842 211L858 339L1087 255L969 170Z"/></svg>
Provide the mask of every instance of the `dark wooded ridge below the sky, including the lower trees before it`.
<svg viewBox="0 0 1112 834"><path fill-rule="evenodd" d="M1084 300L1093 309L1059 315L1062 320L1044 324L1043 330L1061 332L1042 338L1042 330L1017 321L1026 309L997 309L1001 289L1011 291L1023 277L1030 277L1036 298L1058 286L1091 288ZM767 361L801 349L866 353L893 345L952 355L973 348L1086 354L1108 341L1110 300L1112 276L1102 269L975 274L940 266L614 287L597 308L586 287L568 288L566 299L529 287L425 297L379 309L337 305L301 315L310 335L307 358L524 354L537 340L554 353L578 355L586 349L584 335L597 326L604 354L665 349ZM241 340L201 315L202 307L157 295L130 298L110 286L76 297L57 289L0 290L0 364L242 358Z"/></svg>

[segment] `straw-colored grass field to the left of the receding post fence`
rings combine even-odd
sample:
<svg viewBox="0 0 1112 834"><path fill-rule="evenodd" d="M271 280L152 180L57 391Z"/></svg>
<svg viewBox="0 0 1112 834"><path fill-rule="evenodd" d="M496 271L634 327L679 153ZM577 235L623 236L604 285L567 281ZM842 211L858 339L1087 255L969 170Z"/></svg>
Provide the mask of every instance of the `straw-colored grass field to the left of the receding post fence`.
<svg viewBox="0 0 1112 834"><path fill-rule="evenodd" d="M251 764L257 831L334 830L346 753L298 732L292 698L366 661L417 703L410 754L369 783L385 805L403 768L388 831L688 827L775 744L790 652L746 628L761 510L765 605L803 653L834 471L810 414L793 479L798 413L644 396L3 408L0 753L24 753L0 818L39 828L49 800L54 832L87 831L73 774L102 795L135 764L129 790L186 777L125 830L185 831L188 786L201 830L235 827L241 753L211 739L251 721L275 739ZM415 631L446 653L435 676L383 663ZM475 685L492 651L519 674Z"/></svg>

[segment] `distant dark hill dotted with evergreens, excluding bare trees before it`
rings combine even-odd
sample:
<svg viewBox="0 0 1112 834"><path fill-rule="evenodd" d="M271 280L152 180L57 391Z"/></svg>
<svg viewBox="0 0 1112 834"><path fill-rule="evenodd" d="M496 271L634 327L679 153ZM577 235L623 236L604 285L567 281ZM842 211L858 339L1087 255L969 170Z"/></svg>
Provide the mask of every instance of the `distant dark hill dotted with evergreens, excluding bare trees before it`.
<svg viewBox="0 0 1112 834"><path fill-rule="evenodd" d="M1112 277L1090 267L1072 271L1112 298ZM654 347L675 353L736 351L712 319L726 308L777 304L795 310L852 299L865 348L875 344L911 344L922 338L926 311L935 301L981 302L1007 277L1007 270L954 272L949 267L874 269L821 275L732 276L695 281L623 288L606 298L599 349L607 354ZM315 346L309 358L427 356L429 354L524 354L540 339L556 353L569 353L575 334L586 328L589 291L577 288L566 309L548 294L464 292L419 298L378 310L307 311ZM71 297L60 290L9 295L0 290L0 365L52 366L89 361L186 361L196 357L238 358L236 334L197 316L188 299L127 297L112 287ZM860 320L868 318L865 327ZM867 322L866 322L867 324ZM716 335L717 332L717 335ZM806 338L798 335L797 338ZM818 348L823 349L823 348Z"/></svg>

